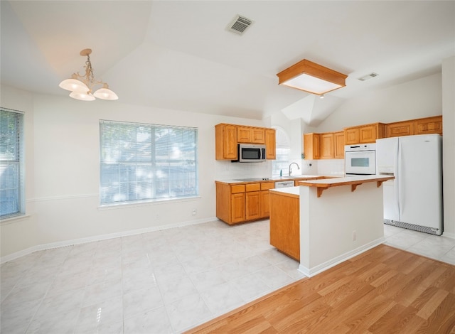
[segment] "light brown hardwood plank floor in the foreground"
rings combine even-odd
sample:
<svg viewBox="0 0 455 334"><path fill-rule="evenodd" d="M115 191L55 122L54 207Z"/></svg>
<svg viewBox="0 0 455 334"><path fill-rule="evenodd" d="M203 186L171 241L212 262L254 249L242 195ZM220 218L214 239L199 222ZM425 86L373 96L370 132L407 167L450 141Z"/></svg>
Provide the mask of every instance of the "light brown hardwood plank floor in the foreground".
<svg viewBox="0 0 455 334"><path fill-rule="evenodd" d="M455 333L455 266L382 244L186 333Z"/></svg>

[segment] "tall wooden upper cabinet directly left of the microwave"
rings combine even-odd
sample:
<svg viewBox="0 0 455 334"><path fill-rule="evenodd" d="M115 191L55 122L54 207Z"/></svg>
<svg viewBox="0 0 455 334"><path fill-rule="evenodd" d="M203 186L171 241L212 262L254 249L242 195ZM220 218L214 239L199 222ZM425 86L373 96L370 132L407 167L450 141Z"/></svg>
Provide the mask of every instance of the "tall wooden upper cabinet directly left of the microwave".
<svg viewBox="0 0 455 334"><path fill-rule="evenodd" d="M231 124L215 126L215 158L237 159L237 126Z"/></svg>

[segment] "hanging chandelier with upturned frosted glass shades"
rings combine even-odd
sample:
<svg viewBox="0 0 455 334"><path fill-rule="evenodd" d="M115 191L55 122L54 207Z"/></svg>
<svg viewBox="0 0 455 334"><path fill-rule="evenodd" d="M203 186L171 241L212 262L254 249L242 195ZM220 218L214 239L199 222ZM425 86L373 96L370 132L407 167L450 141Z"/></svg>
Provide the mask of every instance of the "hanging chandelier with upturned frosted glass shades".
<svg viewBox="0 0 455 334"><path fill-rule="evenodd" d="M109 90L109 86L102 80L95 80L93 78L92 63L90 63L91 49L84 49L80 51L80 55L87 56L85 62L85 75L80 75L79 72L73 73L71 79L66 79L60 82L58 87L71 92L70 97L73 99L80 99L81 101L93 101L95 97L98 99L119 99L117 94ZM93 88L96 85L102 85L99 90L96 90L93 94Z"/></svg>

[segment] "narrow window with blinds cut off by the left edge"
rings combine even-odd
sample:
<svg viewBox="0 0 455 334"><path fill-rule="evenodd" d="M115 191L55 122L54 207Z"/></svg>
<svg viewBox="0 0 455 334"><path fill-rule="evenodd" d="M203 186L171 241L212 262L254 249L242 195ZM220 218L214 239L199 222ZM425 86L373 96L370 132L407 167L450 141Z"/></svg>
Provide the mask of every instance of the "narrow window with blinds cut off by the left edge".
<svg viewBox="0 0 455 334"><path fill-rule="evenodd" d="M0 218L24 214L23 114L0 108Z"/></svg>

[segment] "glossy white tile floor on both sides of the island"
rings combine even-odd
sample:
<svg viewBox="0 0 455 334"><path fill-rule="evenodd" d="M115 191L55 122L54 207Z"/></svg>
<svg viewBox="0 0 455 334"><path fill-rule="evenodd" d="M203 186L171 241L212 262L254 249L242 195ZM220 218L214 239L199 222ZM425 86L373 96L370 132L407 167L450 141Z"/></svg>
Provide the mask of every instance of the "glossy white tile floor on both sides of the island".
<svg viewBox="0 0 455 334"><path fill-rule="evenodd" d="M385 225L386 244L455 264L455 239ZM1 333L181 333L301 279L269 221L215 221L1 264Z"/></svg>

